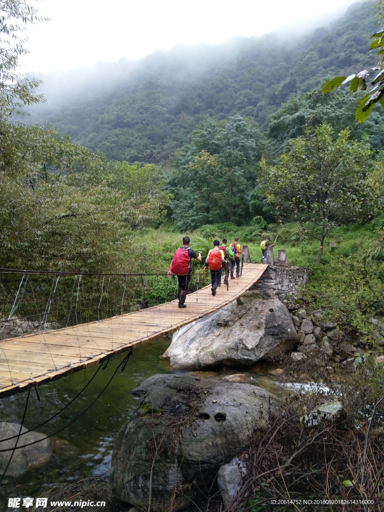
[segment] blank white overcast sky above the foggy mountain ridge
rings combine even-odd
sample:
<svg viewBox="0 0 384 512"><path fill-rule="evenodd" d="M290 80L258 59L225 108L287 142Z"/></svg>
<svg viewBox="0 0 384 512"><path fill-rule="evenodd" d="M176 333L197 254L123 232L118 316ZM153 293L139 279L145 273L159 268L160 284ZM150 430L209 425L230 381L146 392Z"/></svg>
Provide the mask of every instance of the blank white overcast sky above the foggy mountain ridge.
<svg viewBox="0 0 384 512"><path fill-rule="evenodd" d="M32 2L31 2L32 3ZM353 0L41 0L50 22L29 29L24 72L137 59L159 49L215 44L287 24L322 25Z"/></svg>

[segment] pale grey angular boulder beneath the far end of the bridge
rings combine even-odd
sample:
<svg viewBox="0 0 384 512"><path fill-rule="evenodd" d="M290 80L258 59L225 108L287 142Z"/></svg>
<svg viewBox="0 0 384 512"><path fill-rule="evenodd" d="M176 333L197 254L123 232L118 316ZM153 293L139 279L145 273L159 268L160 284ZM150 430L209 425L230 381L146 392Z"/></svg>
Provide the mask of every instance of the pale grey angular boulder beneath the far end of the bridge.
<svg viewBox="0 0 384 512"><path fill-rule="evenodd" d="M215 366L250 366L274 349L291 352L298 336L291 316L278 299L245 295L182 327L163 354L170 365L186 370Z"/></svg>

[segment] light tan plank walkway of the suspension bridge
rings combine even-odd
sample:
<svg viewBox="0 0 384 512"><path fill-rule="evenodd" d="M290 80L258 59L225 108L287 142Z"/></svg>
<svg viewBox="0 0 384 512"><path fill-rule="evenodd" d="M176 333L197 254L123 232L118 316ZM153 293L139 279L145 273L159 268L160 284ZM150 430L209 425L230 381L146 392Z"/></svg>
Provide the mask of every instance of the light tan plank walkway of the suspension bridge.
<svg viewBox="0 0 384 512"><path fill-rule="evenodd" d="M241 278L212 296L210 286L187 295L185 309L167 302L121 316L1 342L0 398L96 365L106 357L150 342L157 336L201 318L242 295L267 265L244 265Z"/></svg>

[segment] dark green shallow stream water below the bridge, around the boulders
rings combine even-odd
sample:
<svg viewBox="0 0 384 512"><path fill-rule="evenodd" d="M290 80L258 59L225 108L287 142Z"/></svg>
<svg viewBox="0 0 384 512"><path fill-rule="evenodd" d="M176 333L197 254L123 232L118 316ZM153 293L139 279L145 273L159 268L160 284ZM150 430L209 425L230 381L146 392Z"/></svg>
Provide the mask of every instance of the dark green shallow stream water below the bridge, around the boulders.
<svg viewBox="0 0 384 512"><path fill-rule="evenodd" d="M175 373L168 362L161 359L161 354L169 343L169 337L162 337L135 348L124 372L118 370L108 388L93 406L80 419L54 436L55 451L49 464L30 471L25 477L17 480L5 476L5 483L0 486L0 509L7 508L10 497L44 497L45 491L53 485L108 472L116 434L137 404L137 398L131 391L151 375ZM54 433L84 411L104 388L125 355L112 357L106 369L98 371L91 384L71 406L47 425L36 430L46 435ZM86 385L98 368L99 365L93 366L39 387L40 400L32 389L24 421L26 428L34 429L36 425L65 406ZM268 376L267 372L271 368L271 365L262 363L253 365L248 371L244 371L244 368L224 368L199 374L222 376L245 373L250 377L251 383L278 396L286 396L287 390ZM24 392L1 399L0 420L20 423L26 398L27 393Z"/></svg>

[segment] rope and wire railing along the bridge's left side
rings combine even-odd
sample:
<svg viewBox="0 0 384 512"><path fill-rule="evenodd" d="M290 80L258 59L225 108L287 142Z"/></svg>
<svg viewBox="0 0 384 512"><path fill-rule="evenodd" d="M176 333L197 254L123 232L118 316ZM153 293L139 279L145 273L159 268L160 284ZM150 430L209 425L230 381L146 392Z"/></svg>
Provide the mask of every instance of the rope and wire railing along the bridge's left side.
<svg viewBox="0 0 384 512"><path fill-rule="evenodd" d="M248 265L244 264L243 273ZM223 281L223 279L222 279ZM188 292L210 284L202 267ZM59 272L0 268L0 339L100 321L167 303L178 281L166 273Z"/></svg>

